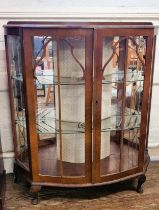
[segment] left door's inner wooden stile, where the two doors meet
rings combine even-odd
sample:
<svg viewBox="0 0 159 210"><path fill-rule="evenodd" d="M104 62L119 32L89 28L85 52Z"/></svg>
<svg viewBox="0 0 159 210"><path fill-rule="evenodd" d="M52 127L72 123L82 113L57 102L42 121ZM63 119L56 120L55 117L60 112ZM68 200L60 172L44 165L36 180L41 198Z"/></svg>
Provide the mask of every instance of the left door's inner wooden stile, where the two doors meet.
<svg viewBox="0 0 159 210"><path fill-rule="evenodd" d="M85 175L92 181L92 31L85 36Z"/></svg>

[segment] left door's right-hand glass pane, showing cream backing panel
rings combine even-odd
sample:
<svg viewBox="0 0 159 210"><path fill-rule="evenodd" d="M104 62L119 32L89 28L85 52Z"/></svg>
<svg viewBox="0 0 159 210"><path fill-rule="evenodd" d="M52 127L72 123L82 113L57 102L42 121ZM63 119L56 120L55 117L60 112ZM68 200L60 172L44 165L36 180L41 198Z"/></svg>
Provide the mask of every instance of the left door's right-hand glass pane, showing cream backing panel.
<svg viewBox="0 0 159 210"><path fill-rule="evenodd" d="M66 37L60 42L62 159L74 164L74 174L84 175L85 162L85 39ZM55 90L56 94L57 89ZM59 110L57 110L57 120ZM59 125L59 123L57 123ZM78 168L77 166L83 168ZM69 175L67 172L64 175Z"/></svg>

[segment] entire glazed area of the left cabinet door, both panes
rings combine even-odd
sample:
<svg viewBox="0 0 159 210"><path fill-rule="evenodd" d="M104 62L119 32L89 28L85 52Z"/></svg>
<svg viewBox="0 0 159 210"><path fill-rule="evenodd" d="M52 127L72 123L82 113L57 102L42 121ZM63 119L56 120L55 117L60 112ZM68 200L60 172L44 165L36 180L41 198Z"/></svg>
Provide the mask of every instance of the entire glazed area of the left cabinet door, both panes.
<svg viewBox="0 0 159 210"><path fill-rule="evenodd" d="M83 35L33 37L41 175L86 175L85 43Z"/></svg>

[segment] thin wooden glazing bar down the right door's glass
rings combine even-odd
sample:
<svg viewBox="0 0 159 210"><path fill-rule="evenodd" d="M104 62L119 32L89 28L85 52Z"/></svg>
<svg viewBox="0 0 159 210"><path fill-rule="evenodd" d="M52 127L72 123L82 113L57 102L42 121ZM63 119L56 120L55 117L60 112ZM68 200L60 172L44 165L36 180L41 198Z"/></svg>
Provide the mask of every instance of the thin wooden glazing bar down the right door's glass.
<svg viewBox="0 0 159 210"><path fill-rule="evenodd" d="M123 139L124 139L124 124L125 124L125 98L126 98L126 75L127 75L127 65L128 65L128 38L125 37L124 40L124 85L123 85L123 94L122 94L122 124L121 124L121 140L120 140L120 163L119 163L119 171L122 171L123 164ZM128 160L129 161L129 160Z"/></svg>

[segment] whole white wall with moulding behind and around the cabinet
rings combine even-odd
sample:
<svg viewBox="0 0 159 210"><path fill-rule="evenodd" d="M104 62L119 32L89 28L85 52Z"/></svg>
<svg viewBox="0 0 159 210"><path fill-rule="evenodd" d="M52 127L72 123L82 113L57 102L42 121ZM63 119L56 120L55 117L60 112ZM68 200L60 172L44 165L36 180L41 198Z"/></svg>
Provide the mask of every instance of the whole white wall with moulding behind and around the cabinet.
<svg viewBox="0 0 159 210"><path fill-rule="evenodd" d="M158 0L0 0L0 133L5 168L12 172L13 144L3 25L10 20L151 21L159 25ZM159 37L153 82L149 146L159 145Z"/></svg>

